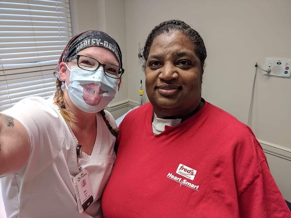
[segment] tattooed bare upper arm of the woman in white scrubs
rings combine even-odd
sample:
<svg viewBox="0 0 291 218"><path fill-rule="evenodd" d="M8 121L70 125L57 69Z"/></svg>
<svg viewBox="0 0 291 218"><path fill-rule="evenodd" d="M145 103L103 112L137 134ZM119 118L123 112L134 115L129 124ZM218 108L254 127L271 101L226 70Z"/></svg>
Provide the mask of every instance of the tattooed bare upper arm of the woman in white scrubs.
<svg viewBox="0 0 291 218"><path fill-rule="evenodd" d="M30 154L30 140L24 126L0 113L0 175L20 170Z"/></svg>

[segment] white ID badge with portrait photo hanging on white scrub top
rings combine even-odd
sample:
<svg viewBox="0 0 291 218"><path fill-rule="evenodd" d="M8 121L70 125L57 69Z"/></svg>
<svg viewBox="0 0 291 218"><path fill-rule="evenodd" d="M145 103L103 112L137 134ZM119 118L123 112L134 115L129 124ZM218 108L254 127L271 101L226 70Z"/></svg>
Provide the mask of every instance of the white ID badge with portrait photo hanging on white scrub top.
<svg viewBox="0 0 291 218"><path fill-rule="evenodd" d="M89 179L89 172L87 170L82 170L74 177L73 182L78 209L81 214L93 202L93 190Z"/></svg>

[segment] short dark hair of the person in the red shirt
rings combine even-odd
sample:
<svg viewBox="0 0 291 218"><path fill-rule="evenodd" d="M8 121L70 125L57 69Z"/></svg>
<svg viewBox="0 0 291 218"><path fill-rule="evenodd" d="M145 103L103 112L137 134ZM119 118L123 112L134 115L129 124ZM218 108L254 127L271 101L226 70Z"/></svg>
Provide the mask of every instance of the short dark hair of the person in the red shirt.
<svg viewBox="0 0 291 218"><path fill-rule="evenodd" d="M169 31L181 31L185 35L188 36L188 38L194 43L195 45L195 53L198 56L200 62L201 62L201 69L203 73L204 63L206 59L206 48L203 42L202 37L199 35L197 31L192 29L188 24L186 24L184 21L181 20L168 20L160 23L157 25L147 36L146 44L144 47L144 57L147 61L149 49L153 43L153 40L156 36L162 34L163 32L169 32ZM145 66L144 66L145 69Z"/></svg>

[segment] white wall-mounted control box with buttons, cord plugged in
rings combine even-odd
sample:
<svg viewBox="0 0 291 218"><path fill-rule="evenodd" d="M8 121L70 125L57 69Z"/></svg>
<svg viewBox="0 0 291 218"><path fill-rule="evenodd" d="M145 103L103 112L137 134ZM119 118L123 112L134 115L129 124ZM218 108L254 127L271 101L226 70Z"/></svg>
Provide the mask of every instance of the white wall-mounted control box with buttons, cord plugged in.
<svg viewBox="0 0 291 218"><path fill-rule="evenodd" d="M291 78L291 59L266 58L264 69L265 76Z"/></svg>

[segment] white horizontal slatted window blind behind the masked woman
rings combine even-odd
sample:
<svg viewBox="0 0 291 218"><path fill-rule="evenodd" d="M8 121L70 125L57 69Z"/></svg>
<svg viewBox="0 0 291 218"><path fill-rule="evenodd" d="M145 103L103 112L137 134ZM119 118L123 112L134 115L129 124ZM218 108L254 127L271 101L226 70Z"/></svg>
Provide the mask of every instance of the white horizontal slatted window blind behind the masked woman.
<svg viewBox="0 0 291 218"><path fill-rule="evenodd" d="M55 92L53 71L72 37L68 0L0 1L0 111Z"/></svg>

